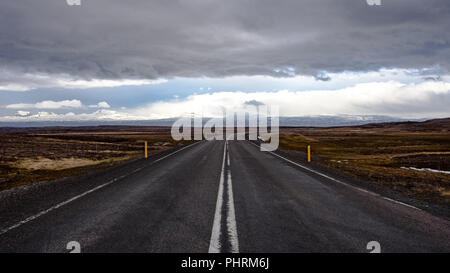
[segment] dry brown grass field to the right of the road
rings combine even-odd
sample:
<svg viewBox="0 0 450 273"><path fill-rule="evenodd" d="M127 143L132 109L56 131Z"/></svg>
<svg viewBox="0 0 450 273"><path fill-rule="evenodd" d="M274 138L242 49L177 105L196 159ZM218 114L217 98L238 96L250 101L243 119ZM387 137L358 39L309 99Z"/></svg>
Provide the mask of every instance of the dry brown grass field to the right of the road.
<svg viewBox="0 0 450 273"><path fill-rule="evenodd" d="M321 165L417 199L450 203L450 175L400 168L450 170L448 127L415 126L284 128L280 147L304 152L311 145Z"/></svg>

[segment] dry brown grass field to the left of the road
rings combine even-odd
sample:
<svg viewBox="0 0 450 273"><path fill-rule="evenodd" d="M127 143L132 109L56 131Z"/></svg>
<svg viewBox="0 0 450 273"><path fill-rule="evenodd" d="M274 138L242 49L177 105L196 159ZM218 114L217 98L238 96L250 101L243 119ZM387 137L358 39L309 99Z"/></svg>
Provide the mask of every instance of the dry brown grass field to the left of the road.
<svg viewBox="0 0 450 273"><path fill-rule="evenodd" d="M0 132L0 190L79 175L179 145L167 127L82 127ZM165 143L165 145L161 145Z"/></svg>

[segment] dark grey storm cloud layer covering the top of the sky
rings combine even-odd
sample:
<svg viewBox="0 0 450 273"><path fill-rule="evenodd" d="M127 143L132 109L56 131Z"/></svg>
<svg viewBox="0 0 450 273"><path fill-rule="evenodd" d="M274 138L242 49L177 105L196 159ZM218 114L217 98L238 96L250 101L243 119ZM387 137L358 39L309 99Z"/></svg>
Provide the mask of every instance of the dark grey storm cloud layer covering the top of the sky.
<svg viewBox="0 0 450 273"><path fill-rule="evenodd" d="M308 75L381 67L447 71L448 0L382 3L1 1L0 66L84 79L291 76L283 71L292 68Z"/></svg>

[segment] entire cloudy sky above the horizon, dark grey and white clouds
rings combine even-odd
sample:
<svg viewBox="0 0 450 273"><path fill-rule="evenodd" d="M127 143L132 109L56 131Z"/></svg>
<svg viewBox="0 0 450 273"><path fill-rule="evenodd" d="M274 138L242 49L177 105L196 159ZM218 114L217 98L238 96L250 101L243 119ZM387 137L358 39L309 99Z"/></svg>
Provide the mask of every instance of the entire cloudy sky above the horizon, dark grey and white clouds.
<svg viewBox="0 0 450 273"><path fill-rule="evenodd" d="M0 121L450 116L448 0L0 2Z"/></svg>

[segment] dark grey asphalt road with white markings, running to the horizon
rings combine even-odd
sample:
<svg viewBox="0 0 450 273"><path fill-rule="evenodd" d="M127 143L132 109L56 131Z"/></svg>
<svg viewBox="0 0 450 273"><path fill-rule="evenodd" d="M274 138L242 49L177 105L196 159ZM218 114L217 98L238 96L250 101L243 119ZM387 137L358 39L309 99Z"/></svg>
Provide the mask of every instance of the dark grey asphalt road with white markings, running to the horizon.
<svg viewBox="0 0 450 273"><path fill-rule="evenodd" d="M248 141L0 193L0 252L449 252L450 222Z"/></svg>

